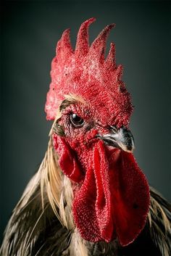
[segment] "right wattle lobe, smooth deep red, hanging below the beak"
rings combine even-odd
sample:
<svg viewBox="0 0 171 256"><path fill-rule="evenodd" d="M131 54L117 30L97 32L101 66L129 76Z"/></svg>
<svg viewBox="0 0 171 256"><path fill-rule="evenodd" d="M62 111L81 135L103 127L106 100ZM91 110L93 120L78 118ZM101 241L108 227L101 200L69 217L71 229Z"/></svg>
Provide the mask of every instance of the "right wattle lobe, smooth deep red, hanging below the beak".
<svg viewBox="0 0 171 256"><path fill-rule="evenodd" d="M125 246L135 240L146 224L149 185L133 154L116 150L109 166L112 216L120 244Z"/></svg>

